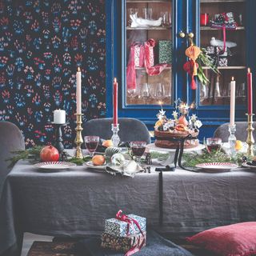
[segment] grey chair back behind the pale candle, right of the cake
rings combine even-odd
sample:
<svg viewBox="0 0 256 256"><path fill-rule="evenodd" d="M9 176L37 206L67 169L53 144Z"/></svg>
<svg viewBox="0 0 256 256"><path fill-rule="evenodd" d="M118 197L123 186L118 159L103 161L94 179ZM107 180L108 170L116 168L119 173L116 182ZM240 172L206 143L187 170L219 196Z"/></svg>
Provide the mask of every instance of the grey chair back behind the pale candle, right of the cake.
<svg viewBox="0 0 256 256"><path fill-rule="evenodd" d="M247 138L247 122L235 122L236 124L236 132L235 137L242 142L246 142ZM256 139L256 123L254 122L254 138ZM228 138L230 136L229 132L229 123L223 123L221 126L214 131L215 138L222 138L222 142L228 142Z"/></svg>

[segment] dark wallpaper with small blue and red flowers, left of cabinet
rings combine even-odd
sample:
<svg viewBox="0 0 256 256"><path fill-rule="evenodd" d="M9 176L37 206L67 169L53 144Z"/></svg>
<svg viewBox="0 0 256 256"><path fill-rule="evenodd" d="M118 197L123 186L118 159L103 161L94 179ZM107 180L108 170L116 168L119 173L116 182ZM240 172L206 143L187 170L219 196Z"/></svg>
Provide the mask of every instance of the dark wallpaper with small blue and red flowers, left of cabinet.
<svg viewBox="0 0 256 256"><path fill-rule="evenodd" d="M105 116L103 0L0 0L0 121L26 146L53 140L53 111L66 110L63 141L74 146L75 74L82 69L84 121Z"/></svg>

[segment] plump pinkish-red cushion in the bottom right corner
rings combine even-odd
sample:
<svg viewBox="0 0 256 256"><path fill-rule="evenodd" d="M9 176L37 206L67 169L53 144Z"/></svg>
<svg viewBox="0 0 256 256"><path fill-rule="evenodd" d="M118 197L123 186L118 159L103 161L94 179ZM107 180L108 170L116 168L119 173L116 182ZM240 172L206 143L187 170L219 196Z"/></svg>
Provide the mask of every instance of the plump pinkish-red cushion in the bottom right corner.
<svg viewBox="0 0 256 256"><path fill-rule="evenodd" d="M256 255L256 222L216 227L187 241L222 256Z"/></svg>

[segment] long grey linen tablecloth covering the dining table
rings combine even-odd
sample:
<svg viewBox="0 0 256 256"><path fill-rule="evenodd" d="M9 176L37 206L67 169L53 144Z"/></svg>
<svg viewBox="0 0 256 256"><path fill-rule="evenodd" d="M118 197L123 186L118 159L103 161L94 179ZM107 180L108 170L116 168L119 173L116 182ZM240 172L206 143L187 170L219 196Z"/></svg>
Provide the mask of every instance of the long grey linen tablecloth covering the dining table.
<svg viewBox="0 0 256 256"><path fill-rule="evenodd" d="M112 177L77 166L43 174L18 162L6 179L0 208L0 254L20 232L98 234L119 209L145 216L168 233L194 233L256 220L256 174L163 173L163 225L158 225L158 173Z"/></svg>

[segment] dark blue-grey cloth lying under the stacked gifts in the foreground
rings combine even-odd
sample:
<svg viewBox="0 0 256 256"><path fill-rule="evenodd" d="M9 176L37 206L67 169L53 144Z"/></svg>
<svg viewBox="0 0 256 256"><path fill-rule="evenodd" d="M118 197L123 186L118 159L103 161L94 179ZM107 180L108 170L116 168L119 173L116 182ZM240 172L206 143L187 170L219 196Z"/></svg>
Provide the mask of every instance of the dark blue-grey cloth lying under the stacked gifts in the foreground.
<svg viewBox="0 0 256 256"><path fill-rule="evenodd" d="M123 256L111 250L103 250L100 247L100 238L83 239L78 243L78 251L82 254L83 250L90 251L91 256ZM162 238L154 231L146 234L146 246L142 248L136 256L194 256L188 250Z"/></svg>

